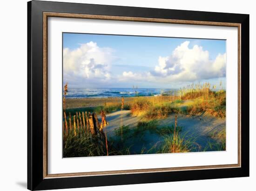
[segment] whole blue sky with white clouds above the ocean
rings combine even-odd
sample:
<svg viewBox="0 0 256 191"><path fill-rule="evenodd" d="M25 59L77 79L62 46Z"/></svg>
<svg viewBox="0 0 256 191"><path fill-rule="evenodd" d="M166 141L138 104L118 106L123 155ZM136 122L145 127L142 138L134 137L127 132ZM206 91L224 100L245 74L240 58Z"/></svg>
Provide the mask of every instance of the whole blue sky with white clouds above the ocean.
<svg viewBox="0 0 256 191"><path fill-rule="evenodd" d="M63 51L63 83L74 87L225 84L225 40L63 33Z"/></svg>

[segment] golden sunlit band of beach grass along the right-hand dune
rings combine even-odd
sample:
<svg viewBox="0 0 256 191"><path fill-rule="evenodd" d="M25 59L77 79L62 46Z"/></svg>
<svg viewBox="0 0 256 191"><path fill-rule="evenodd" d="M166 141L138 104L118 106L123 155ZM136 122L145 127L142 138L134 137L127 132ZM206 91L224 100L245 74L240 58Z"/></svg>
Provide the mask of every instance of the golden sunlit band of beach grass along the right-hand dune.
<svg viewBox="0 0 256 191"><path fill-rule="evenodd" d="M143 116L146 119L163 119L172 113L198 114L200 112L208 112L212 116L224 118L226 116L226 92L214 93L207 99L201 96L185 102L176 100L156 105L152 105L145 99L135 102L131 106L131 111L133 115Z"/></svg>

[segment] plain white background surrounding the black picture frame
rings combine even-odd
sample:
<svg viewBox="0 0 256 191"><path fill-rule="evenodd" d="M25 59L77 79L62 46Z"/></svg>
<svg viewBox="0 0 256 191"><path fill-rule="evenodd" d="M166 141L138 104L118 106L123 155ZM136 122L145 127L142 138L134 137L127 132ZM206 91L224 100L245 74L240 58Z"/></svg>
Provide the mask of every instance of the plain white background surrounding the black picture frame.
<svg viewBox="0 0 256 191"><path fill-rule="evenodd" d="M62 0L65 1L65 0ZM196 11L250 14L250 177L197 180L144 185L80 188L84 191L255 190L256 136L252 121L256 81L256 12L253 0L68 0L94 4L141 6ZM1 1L0 5L0 190L27 187L27 0ZM247 127L243 127L247 128ZM72 189L71 189L72 190ZM71 191L69 190L69 191ZM74 189L73 189L74 190Z"/></svg>

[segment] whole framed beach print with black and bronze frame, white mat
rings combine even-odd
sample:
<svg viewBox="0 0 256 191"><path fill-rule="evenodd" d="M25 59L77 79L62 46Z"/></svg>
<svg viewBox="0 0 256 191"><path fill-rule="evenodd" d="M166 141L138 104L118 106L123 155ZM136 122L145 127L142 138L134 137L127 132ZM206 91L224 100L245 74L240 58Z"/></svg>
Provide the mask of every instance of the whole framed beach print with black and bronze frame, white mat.
<svg viewBox="0 0 256 191"><path fill-rule="evenodd" d="M28 189L249 176L249 15L28 2Z"/></svg>

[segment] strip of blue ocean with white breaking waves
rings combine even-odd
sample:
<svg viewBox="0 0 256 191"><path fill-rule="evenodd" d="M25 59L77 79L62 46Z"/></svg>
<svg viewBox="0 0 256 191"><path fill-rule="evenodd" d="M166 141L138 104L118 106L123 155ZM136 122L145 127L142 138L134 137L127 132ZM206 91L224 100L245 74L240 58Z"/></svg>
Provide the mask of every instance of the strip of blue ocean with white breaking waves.
<svg viewBox="0 0 256 191"><path fill-rule="evenodd" d="M66 98L159 96L178 89L158 88L68 88ZM170 95L170 92L168 92Z"/></svg>

